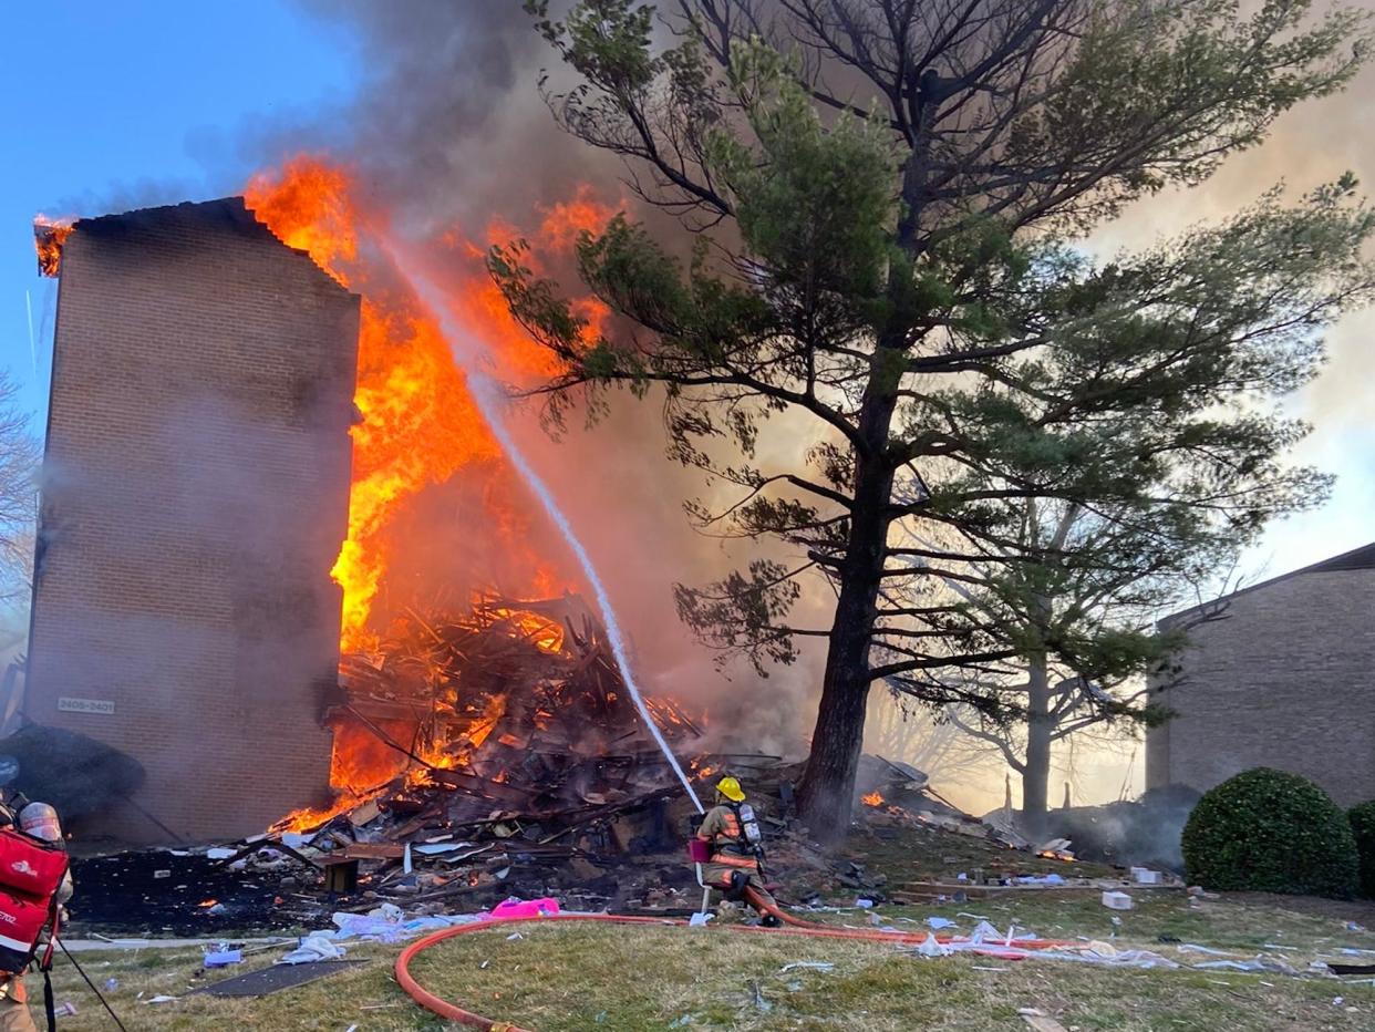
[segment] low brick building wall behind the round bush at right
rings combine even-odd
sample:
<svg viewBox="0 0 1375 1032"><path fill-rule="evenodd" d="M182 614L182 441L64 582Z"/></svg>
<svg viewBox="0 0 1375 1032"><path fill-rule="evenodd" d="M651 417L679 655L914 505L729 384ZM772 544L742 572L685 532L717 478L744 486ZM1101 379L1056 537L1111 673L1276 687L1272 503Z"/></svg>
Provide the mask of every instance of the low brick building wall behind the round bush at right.
<svg viewBox="0 0 1375 1032"><path fill-rule="evenodd" d="M1375 798L1375 544L1228 596L1189 637L1159 696L1176 716L1145 736L1148 788L1273 766L1342 806Z"/></svg>

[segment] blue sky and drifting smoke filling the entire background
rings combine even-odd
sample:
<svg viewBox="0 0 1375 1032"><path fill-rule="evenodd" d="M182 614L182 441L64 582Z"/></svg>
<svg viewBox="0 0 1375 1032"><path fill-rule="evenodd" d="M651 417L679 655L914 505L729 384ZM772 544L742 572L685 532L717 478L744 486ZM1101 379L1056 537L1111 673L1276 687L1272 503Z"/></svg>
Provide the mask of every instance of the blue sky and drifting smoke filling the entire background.
<svg viewBox="0 0 1375 1032"><path fill-rule="evenodd" d="M52 293L32 274L28 227L34 211L99 213L239 193L254 172L298 153L319 153L351 168L360 202L386 212L402 238L432 244L452 234L472 245L443 252L455 278L465 279L480 274L481 248L502 227L536 234L558 205L579 195L612 209L628 204L619 162L553 127L536 81L557 59L514 0L260 1L208 15L223 23L202 28L195 39L177 34L170 4L138 15L111 15L95 4L63 8L21 15L34 22L0 43L10 51L0 61L0 96L15 105L6 124L15 127L28 155L0 171L11 180L0 182L7 241L0 249L0 341L11 367L25 376L32 370L25 388L36 414L45 398ZM48 81L52 54L30 45L38 39L66 41L59 81ZM151 50L165 61L157 70L142 69L114 45L118 39L139 39L139 52ZM1363 178L1375 173L1361 99L1375 85L1372 74L1368 70L1341 98L1286 116L1270 142L1228 162L1204 187L1129 211L1092 245L1110 252L1148 244L1220 217L1282 179L1306 190L1345 169ZM38 81L47 83L41 99L33 94ZM92 83L103 84L122 116L111 120L106 113L103 121L147 125L161 136L150 136L140 150L138 138L126 147L106 133L91 110ZM120 147L118 160L102 160L102 147ZM65 175L48 176L48 166ZM440 252L425 253L433 259ZM566 271L566 249L550 248L543 260L551 271ZM32 351L25 292L34 323ZM1248 556L1253 581L1370 538L1375 414L1361 396L1375 362L1364 345L1372 318L1360 314L1339 326L1331 367L1292 399L1294 411L1316 425L1298 458L1339 475L1334 498L1269 533ZM744 666L718 671L692 641L676 619L670 586L710 581L737 566L745 550L689 524L685 498L725 495L711 495L720 488L664 458L657 399L637 403L623 395L613 402L606 421L583 429L575 420L558 443L536 425L534 405L518 410L513 422L608 581L642 680L652 689L698 700L710 709L712 727L742 742L796 750L813 720L820 649L762 681ZM763 447L796 450L798 442L776 433ZM412 604L446 586L462 592L518 581L521 574L490 546L500 535L483 526L494 498L502 510L528 506L521 533L547 548L551 568L572 568L520 484L495 465L473 466L466 477L417 494L397 515L399 541L380 605ZM799 623L824 626L825 603L818 590ZM881 688L876 696L874 749L930 769L939 788L972 809L1002 801L1001 765L971 755L953 732L931 729L921 714L902 720ZM1116 798L1143 780L1143 758L1132 742L1081 742L1060 761L1077 802ZM1016 804L1015 782L1012 793ZM1052 799L1059 798L1055 784Z"/></svg>

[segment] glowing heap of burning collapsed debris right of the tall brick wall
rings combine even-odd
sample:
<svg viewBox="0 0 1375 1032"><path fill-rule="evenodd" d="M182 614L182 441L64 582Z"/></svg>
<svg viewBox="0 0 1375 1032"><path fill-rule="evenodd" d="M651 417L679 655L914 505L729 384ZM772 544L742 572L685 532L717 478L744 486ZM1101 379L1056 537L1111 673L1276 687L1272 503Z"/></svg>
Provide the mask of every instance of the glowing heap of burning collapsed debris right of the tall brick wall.
<svg viewBox="0 0 1375 1032"><path fill-rule="evenodd" d="M329 714L340 799L287 816L278 831L360 806L443 802L456 823L492 805L547 815L667 784L605 632L578 596L408 612L377 652L345 656L340 674L344 699ZM676 703L649 706L668 739L701 736Z"/></svg>

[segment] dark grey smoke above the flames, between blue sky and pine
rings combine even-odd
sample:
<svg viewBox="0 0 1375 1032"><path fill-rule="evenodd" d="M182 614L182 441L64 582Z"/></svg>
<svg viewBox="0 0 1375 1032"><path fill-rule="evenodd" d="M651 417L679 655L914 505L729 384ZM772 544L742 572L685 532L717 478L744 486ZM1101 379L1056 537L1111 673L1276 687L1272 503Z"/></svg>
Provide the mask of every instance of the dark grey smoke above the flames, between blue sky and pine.
<svg viewBox="0 0 1375 1032"><path fill-rule="evenodd" d="M341 151L403 224L481 233L520 226L579 182L612 182L616 162L560 133L536 88L553 54L518 3L301 0L360 48L346 111L268 139L268 158L318 144ZM275 153L274 153L275 151Z"/></svg>

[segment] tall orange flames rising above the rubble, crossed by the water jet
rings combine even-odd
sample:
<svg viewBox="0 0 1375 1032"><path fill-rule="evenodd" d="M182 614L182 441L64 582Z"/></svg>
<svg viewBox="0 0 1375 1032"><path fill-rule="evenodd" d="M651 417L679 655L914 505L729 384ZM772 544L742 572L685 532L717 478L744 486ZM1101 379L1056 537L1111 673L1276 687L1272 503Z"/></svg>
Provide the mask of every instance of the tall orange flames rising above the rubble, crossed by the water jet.
<svg viewBox="0 0 1375 1032"><path fill-rule="evenodd" d="M245 195L283 242L363 293L355 395L362 418L353 428L348 539L333 577L344 589L341 645L346 652L368 649L377 645L370 619L378 592L393 555L404 548L393 533L399 506L461 471L505 461L434 318L388 270L377 274L382 259L364 255L367 239L385 233L385 226L363 209L348 172L296 158L280 172L254 176ZM583 189L542 213L534 241L549 252L566 250L580 230L604 226L609 215ZM500 223L488 228L490 241L509 235ZM505 372L514 377L553 372L550 354L529 341L481 270L483 248L454 231L430 244L451 259L448 301L455 314L488 343ZM584 311L594 322L604 315L595 305ZM566 586L557 564L539 553L527 510L484 484L485 530L499 538L507 567L525 572L525 583L503 589L547 596Z"/></svg>

